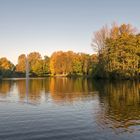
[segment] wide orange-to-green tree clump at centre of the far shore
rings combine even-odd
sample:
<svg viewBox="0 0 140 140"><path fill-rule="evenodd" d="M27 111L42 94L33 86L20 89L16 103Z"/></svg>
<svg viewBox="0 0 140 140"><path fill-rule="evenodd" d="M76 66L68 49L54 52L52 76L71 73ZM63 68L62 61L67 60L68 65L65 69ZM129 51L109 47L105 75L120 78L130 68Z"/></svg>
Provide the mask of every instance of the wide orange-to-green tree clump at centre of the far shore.
<svg viewBox="0 0 140 140"><path fill-rule="evenodd" d="M53 75L89 75L93 68L92 62L88 54L59 51L50 58L50 70Z"/></svg>

